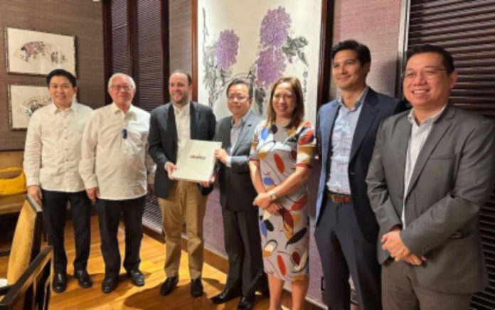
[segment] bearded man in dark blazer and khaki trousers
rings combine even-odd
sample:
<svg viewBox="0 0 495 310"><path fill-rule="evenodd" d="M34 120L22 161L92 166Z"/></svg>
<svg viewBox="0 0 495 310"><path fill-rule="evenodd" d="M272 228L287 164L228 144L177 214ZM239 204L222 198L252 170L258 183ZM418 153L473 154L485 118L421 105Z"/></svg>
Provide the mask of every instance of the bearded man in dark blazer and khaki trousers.
<svg viewBox="0 0 495 310"><path fill-rule="evenodd" d="M169 78L171 102L151 112L149 125L149 154L156 163L154 193L161 208L166 242L166 280L160 288L160 294L164 296L170 294L179 282L183 218L186 219L188 235L191 295L198 297L203 294L203 218L206 198L211 190L201 188L198 183L174 180L171 176L186 140L211 141L215 135L213 111L192 102L191 91L191 75L175 70Z"/></svg>

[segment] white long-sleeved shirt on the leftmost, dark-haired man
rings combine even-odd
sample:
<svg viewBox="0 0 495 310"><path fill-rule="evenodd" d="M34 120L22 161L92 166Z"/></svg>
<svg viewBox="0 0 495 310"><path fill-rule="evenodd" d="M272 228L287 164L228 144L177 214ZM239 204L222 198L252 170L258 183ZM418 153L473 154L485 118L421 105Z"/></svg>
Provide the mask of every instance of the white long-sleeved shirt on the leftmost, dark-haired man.
<svg viewBox="0 0 495 310"><path fill-rule="evenodd" d="M74 193L84 190L78 164L81 139L92 109L77 102L65 110L50 103L28 124L24 148L26 186Z"/></svg>

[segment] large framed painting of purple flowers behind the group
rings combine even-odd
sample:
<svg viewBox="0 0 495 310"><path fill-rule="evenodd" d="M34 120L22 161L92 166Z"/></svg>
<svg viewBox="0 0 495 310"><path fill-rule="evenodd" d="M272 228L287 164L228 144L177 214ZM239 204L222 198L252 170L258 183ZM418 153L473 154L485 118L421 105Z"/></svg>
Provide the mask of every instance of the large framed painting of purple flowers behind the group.
<svg viewBox="0 0 495 310"><path fill-rule="evenodd" d="M272 83L292 75L302 83L305 118L316 125L329 99L328 16L329 0L193 1L193 97L220 119L230 115L225 88L244 78L255 90L252 109L264 115Z"/></svg>

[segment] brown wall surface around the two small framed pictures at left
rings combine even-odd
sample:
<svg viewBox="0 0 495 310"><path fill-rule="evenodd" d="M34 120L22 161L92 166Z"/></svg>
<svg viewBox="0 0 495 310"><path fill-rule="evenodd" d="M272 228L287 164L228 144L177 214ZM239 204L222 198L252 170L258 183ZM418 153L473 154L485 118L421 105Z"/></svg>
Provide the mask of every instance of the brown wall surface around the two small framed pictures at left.
<svg viewBox="0 0 495 310"><path fill-rule="evenodd" d="M105 100L102 4L80 0L1 0L0 151L23 149L26 131L9 129L8 84L45 85L43 76L7 74L5 26L76 36L78 100L100 107Z"/></svg>

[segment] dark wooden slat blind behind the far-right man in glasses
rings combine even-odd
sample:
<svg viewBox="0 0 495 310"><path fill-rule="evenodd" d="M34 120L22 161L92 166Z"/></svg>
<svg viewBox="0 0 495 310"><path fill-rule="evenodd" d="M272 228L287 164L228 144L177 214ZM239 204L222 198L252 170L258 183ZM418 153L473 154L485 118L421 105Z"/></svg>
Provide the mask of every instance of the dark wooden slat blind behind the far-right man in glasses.
<svg viewBox="0 0 495 310"><path fill-rule="evenodd" d="M454 105L495 120L495 0L410 0L408 46L425 43L454 56ZM473 296L471 306L495 309L495 191L479 221L490 285Z"/></svg>

